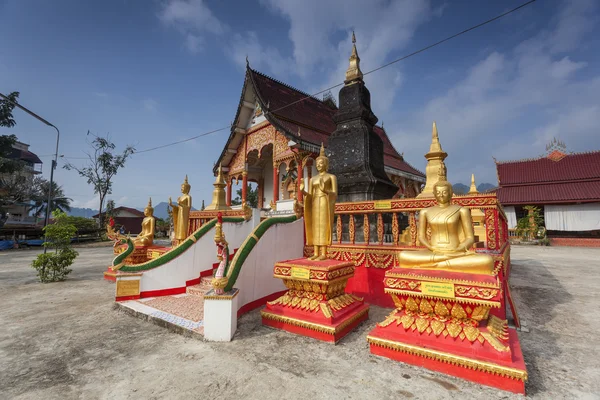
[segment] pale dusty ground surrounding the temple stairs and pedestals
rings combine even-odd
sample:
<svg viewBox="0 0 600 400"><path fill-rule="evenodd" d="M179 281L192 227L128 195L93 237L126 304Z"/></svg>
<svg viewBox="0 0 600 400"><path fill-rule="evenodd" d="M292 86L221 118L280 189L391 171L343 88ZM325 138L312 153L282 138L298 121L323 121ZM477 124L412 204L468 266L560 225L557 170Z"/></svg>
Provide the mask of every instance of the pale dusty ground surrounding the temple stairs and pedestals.
<svg viewBox="0 0 600 400"><path fill-rule="evenodd" d="M265 328L255 310L231 343L185 338L113 309L112 248L78 248L69 279L40 284L37 250L0 252L3 399L512 399L521 396L369 353ZM513 247L511 286L528 397L600 398L600 249Z"/></svg>

